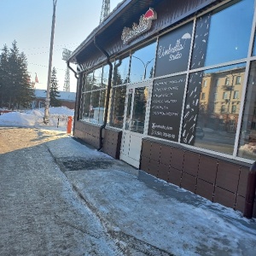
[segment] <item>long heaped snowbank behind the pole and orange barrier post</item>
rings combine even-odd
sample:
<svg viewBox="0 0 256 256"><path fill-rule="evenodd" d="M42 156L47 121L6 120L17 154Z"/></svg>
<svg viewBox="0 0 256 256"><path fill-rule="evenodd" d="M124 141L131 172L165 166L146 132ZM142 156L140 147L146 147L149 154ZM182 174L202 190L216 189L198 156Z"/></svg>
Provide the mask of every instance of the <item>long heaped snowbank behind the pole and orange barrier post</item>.
<svg viewBox="0 0 256 256"><path fill-rule="evenodd" d="M44 108L36 108L25 112L9 112L0 115L2 126L22 126L65 131L67 117L74 115L74 110L60 107L49 108L49 124L44 124Z"/></svg>

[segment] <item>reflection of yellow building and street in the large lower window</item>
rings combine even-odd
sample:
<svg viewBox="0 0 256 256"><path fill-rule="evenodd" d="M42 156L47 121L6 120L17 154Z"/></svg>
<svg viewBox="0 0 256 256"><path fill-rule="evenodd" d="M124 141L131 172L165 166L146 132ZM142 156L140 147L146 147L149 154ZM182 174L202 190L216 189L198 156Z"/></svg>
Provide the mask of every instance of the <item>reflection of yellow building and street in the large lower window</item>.
<svg viewBox="0 0 256 256"><path fill-rule="evenodd" d="M236 76L239 75L243 79L244 73L244 63L214 68L202 73L201 84L206 77L208 84L207 88L201 86L201 93L204 92L206 97L204 100L200 98L198 113L195 115L196 147L233 154L240 111L240 102L233 97L233 93L241 94L242 86L236 84ZM229 85L226 84L227 79L230 80ZM219 86L216 87L217 80ZM189 82L189 87L192 85L194 86ZM193 124L191 127L194 128Z"/></svg>

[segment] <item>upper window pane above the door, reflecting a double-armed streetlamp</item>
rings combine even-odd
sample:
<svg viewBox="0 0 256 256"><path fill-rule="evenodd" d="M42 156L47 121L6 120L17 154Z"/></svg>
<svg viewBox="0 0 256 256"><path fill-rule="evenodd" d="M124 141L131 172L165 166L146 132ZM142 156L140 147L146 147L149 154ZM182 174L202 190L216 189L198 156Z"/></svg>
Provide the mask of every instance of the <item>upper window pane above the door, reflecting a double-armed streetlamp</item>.
<svg viewBox="0 0 256 256"><path fill-rule="evenodd" d="M154 42L142 49L137 49L131 55L131 83L153 78L155 49L156 43Z"/></svg>

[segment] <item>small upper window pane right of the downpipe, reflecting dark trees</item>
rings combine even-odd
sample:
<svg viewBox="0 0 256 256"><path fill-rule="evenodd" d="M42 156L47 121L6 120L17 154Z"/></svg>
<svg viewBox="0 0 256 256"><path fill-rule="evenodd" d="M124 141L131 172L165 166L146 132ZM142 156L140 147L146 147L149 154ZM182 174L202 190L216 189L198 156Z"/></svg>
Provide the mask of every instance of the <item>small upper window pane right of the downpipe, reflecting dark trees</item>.
<svg viewBox="0 0 256 256"><path fill-rule="evenodd" d="M130 83L129 66L130 56L115 61L113 65L113 85Z"/></svg>

